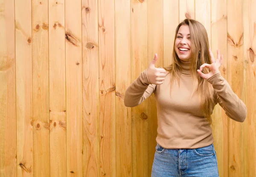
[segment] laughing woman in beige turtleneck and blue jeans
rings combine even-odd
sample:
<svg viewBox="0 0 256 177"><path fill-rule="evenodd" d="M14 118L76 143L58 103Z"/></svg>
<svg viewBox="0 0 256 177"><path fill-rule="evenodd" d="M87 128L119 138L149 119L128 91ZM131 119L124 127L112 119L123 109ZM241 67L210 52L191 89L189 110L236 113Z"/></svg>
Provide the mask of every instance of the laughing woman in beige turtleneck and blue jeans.
<svg viewBox="0 0 256 177"><path fill-rule="evenodd" d="M157 146L152 177L218 177L211 114L218 103L228 117L243 122L247 109L221 76L209 50L207 31L191 19L176 29L173 62L156 68L157 54L125 91L125 106L135 107L152 93L157 102Z"/></svg>

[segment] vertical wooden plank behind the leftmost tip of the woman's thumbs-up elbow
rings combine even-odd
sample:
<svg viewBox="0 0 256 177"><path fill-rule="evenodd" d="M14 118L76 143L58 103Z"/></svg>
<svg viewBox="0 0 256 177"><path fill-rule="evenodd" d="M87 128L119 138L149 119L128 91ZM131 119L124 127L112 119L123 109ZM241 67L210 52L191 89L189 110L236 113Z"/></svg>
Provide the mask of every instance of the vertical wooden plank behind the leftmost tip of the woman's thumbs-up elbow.
<svg viewBox="0 0 256 177"><path fill-rule="evenodd" d="M131 84L131 4L115 0L116 27L116 176L132 177L131 108L124 105Z"/></svg>

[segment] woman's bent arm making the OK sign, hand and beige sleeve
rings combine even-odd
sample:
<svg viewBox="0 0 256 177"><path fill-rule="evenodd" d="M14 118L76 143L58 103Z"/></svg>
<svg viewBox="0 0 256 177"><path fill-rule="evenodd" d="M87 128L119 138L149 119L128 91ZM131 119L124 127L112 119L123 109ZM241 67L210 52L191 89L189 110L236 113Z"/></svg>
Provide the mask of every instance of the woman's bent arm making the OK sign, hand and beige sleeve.
<svg viewBox="0 0 256 177"><path fill-rule="evenodd" d="M202 78L206 79L212 84L215 90L215 98L218 104L225 110L227 116L235 121L243 122L247 115L247 108L243 101L233 92L228 82L221 76L221 72L218 70L222 65L223 55L220 55L217 51L217 59L215 61L212 51L209 49L212 64L203 64L199 68L198 74ZM201 71L204 67L209 68L210 73L204 74Z"/></svg>

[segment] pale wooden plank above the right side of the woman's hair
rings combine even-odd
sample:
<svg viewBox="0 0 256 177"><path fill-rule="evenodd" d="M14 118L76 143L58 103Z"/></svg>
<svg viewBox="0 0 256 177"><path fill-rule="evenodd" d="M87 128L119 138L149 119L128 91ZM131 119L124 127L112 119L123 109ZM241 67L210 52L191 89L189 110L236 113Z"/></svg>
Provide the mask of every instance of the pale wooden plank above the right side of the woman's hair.
<svg viewBox="0 0 256 177"><path fill-rule="evenodd" d="M211 0L195 0L195 20L206 28L211 47Z"/></svg>

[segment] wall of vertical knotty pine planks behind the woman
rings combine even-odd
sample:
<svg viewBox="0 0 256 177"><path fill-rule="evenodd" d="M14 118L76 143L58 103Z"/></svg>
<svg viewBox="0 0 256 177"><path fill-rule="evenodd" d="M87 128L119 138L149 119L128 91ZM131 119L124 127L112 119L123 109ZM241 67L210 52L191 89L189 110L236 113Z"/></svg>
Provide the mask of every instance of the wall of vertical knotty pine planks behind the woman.
<svg viewBox="0 0 256 177"><path fill-rule="evenodd" d="M148 177L154 96L125 89L157 53L171 64L175 28L196 19L221 74L247 105L217 105L220 177L256 177L256 0L0 0L0 177Z"/></svg>

